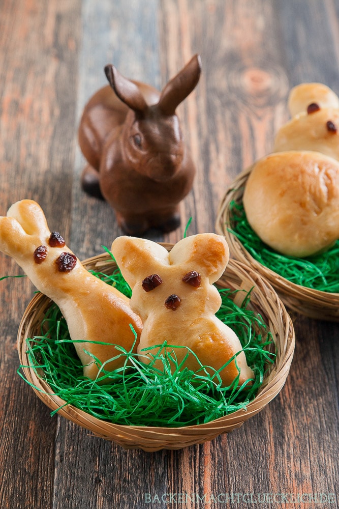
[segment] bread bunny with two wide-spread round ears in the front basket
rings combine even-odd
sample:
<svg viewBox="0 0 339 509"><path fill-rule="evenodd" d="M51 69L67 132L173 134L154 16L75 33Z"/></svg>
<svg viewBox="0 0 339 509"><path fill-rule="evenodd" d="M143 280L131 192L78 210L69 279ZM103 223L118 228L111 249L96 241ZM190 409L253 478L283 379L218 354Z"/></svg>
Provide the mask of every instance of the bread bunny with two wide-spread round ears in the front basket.
<svg viewBox="0 0 339 509"><path fill-rule="evenodd" d="M189 347L203 365L215 370L236 355L236 361L220 372L223 385L230 385L238 376L239 384L253 379L238 337L214 316L221 297L212 284L229 260L224 237L194 235L180 240L168 252L155 242L122 236L113 241L112 253L132 288L131 307L143 322L138 353L146 354L144 348L166 341L168 345ZM175 349L178 362L186 354L185 348ZM194 371L199 368L192 354L185 366Z"/></svg>

